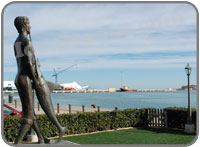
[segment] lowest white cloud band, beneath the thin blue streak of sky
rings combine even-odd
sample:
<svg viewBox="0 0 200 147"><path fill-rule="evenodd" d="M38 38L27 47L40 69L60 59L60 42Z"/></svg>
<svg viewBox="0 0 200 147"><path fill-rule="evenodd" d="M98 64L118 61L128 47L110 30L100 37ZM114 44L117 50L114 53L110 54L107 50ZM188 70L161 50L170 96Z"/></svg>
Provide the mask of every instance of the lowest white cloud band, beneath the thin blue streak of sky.
<svg viewBox="0 0 200 147"><path fill-rule="evenodd" d="M52 71L53 67L59 67L65 69L66 67L74 64L76 68L71 70L88 70L88 69L159 69L159 68L183 68L187 62L192 63L194 66L196 63L195 57L179 57L169 56L165 58L154 58L154 59L113 59L113 58L93 58L90 57L88 61L79 62L77 57L70 59L63 59L63 61L53 62L49 64L48 61L41 61L43 71ZM195 67L194 67L195 68Z"/></svg>

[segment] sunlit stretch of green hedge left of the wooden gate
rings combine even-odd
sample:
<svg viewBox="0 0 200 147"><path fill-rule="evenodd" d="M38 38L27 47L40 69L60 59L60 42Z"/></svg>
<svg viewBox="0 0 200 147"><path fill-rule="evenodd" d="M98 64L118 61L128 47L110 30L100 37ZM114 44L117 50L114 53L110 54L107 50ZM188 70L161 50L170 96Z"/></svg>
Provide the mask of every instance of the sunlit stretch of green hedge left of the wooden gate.
<svg viewBox="0 0 200 147"><path fill-rule="evenodd" d="M66 131L66 134L79 134L123 127L137 126L141 124L140 110L118 110L112 112L85 112L76 114L60 114L57 118L62 126L69 123L72 125ZM4 118L4 135L10 142L14 141L18 133L20 117ZM46 115L37 115L41 132L46 137L58 136L58 130ZM75 121L75 122L73 122Z"/></svg>

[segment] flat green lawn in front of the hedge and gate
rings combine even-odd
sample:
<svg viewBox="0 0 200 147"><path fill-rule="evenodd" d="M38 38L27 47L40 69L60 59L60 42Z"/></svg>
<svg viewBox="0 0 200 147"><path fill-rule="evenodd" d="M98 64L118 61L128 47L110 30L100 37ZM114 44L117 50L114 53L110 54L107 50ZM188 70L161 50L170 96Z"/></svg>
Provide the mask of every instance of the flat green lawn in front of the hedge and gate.
<svg viewBox="0 0 200 147"><path fill-rule="evenodd" d="M113 132L65 137L78 144L188 144L195 134L171 129L134 128Z"/></svg>

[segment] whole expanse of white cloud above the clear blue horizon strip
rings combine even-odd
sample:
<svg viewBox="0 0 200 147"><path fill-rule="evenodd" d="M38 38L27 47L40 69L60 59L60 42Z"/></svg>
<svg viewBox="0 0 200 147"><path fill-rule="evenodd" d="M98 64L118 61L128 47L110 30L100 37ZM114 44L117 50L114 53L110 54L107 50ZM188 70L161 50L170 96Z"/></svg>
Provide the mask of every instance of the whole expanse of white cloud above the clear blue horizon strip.
<svg viewBox="0 0 200 147"><path fill-rule="evenodd" d="M16 70L13 21L27 15L33 45L44 70L78 63L80 69L181 67L196 51L196 12L188 4L13 4L4 13L5 71ZM112 54L165 52L163 59L107 59ZM99 58L99 56L102 56ZM92 58L91 58L92 57ZM155 58L155 59L154 59Z"/></svg>

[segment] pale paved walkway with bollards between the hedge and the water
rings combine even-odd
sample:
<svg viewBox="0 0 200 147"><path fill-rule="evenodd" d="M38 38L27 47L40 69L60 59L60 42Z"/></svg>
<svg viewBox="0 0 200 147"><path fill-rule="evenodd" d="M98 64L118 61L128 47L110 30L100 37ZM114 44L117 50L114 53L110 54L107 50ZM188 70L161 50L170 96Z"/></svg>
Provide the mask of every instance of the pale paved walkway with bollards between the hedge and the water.
<svg viewBox="0 0 200 147"><path fill-rule="evenodd" d="M5 104L11 106L12 108L15 108L15 102L13 102L13 103L5 102ZM17 108L15 108L15 109L18 111L22 111L21 102L17 102ZM35 110L36 114L44 114L44 111L42 110L41 106L39 106L39 109L38 109L38 104L35 104L34 110ZM54 111L55 111L55 113L58 113L57 105L54 106ZM97 108L85 107L85 112L95 112L95 111L97 111ZM112 110L111 109L100 109L100 111L112 111ZM77 113L77 112L83 112L82 107L71 106L71 113ZM63 113L69 113L69 106L61 106L61 105L59 106L59 114L63 114Z"/></svg>

